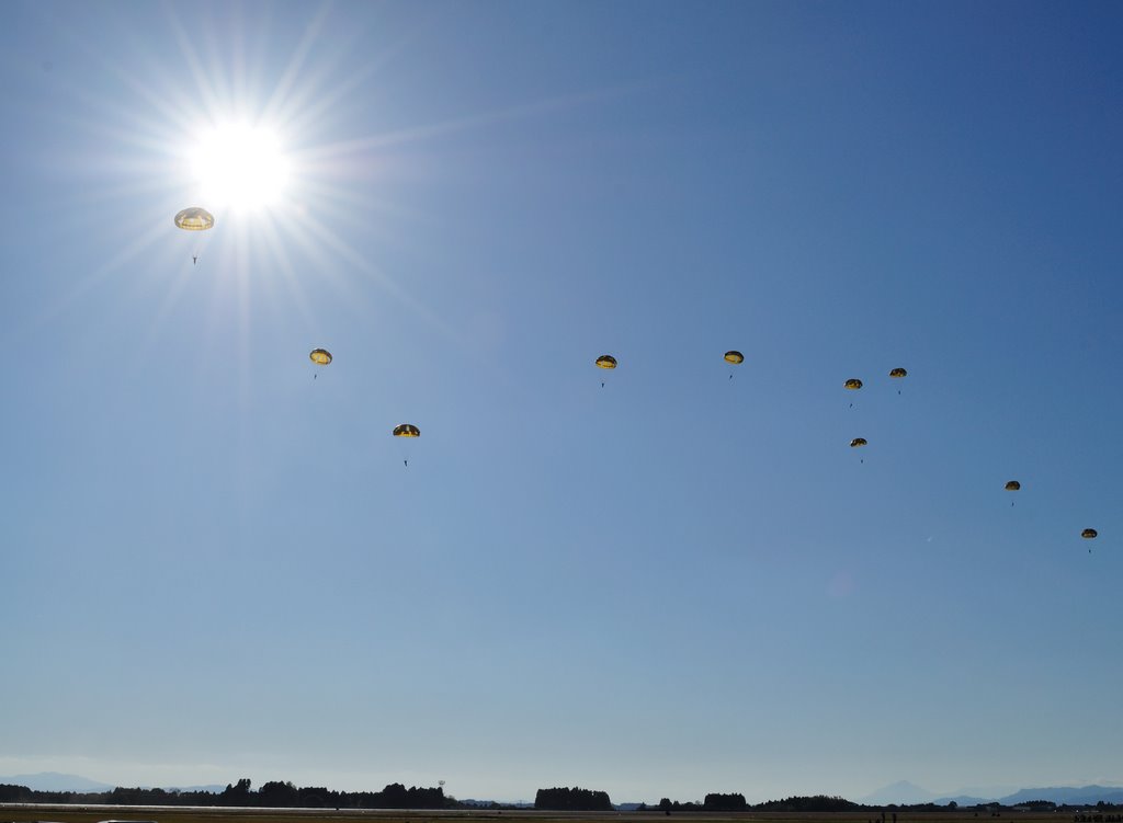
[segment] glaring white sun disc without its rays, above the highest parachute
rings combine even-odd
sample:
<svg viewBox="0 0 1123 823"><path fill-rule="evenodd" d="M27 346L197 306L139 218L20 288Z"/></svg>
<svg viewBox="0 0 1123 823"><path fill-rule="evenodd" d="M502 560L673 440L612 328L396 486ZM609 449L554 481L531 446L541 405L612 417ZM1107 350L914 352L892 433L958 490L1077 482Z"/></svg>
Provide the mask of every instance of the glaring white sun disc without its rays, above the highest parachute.
<svg viewBox="0 0 1123 823"><path fill-rule="evenodd" d="M289 161L273 131L231 124L199 137L191 170L209 208L255 210L279 201Z"/></svg>

